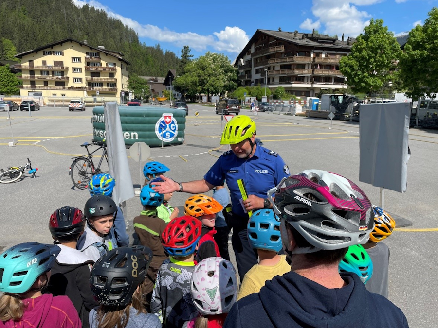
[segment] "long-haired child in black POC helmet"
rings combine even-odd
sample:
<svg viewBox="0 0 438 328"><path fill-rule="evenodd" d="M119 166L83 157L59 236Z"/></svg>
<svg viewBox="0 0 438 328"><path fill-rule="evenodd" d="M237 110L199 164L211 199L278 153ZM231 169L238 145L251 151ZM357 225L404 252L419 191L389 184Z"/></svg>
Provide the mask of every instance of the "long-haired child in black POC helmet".
<svg viewBox="0 0 438 328"><path fill-rule="evenodd" d="M90 312L91 328L160 328L144 308L143 289L152 251L119 247L103 255L91 270L90 285L100 306Z"/></svg>

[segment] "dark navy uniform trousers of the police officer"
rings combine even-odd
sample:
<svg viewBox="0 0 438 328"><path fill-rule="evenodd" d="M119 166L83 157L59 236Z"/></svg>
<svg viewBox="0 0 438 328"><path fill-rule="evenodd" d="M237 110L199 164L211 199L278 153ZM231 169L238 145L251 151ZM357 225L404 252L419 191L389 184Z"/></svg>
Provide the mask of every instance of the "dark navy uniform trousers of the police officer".
<svg viewBox="0 0 438 328"><path fill-rule="evenodd" d="M246 234L248 219L239 217L236 214L232 214L232 217L229 217L228 219L233 227L231 243L233 244L234 254L236 255L237 271L239 273L240 282L242 282L243 277L249 269L257 264L258 255L257 251L251 247Z"/></svg>

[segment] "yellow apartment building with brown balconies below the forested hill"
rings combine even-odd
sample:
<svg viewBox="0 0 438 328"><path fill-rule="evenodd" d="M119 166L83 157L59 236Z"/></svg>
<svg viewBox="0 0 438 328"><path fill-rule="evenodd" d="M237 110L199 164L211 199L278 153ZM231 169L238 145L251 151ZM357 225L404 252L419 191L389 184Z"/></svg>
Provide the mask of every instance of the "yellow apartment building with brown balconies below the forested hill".
<svg viewBox="0 0 438 328"><path fill-rule="evenodd" d="M130 63L123 53L72 38L18 53L21 96L127 100Z"/></svg>

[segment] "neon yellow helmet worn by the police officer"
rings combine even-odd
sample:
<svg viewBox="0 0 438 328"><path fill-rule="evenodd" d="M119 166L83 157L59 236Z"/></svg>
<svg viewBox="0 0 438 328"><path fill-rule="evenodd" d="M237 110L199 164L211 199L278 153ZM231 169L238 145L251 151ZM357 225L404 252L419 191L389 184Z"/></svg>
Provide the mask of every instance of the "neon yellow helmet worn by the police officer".
<svg viewBox="0 0 438 328"><path fill-rule="evenodd" d="M249 116L237 115L225 125L221 145L234 145L249 139L256 133L256 123Z"/></svg>

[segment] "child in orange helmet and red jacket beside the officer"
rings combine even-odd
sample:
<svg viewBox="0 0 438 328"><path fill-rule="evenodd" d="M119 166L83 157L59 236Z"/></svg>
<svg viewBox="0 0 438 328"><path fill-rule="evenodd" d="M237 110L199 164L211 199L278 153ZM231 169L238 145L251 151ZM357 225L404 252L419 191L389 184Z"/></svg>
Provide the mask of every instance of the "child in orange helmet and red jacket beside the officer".
<svg viewBox="0 0 438 328"><path fill-rule="evenodd" d="M220 257L219 247L213 235L216 233L216 213L222 209L223 206L216 199L202 194L190 196L185 201L185 214L197 218L202 223L201 239L195 257L197 263L203 259Z"/></svg>

